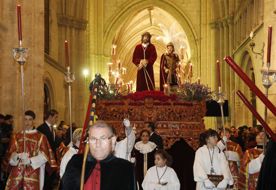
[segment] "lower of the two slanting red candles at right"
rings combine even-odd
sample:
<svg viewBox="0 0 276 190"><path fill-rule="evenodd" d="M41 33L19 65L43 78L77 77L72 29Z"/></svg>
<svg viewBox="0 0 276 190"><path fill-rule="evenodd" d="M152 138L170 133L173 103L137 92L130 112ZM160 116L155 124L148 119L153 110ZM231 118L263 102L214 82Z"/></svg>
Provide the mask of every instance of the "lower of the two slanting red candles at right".
<svg viewBox="0 0 276 190"><path fill-rule="evenodd" d="M259 115L259 113L253 108L253 106L250 104L250 102L244 97L243 93L238 90L236 92L240 99L242 99L243 103L249 108L249 110L252 112L252 114L256 117L256 119L263 125L263 127L266 129L266 131L269 133L271 138L276 142L276 135L273 133L273 131L268 127L266 122L263 120L263 118Z"/></svg>

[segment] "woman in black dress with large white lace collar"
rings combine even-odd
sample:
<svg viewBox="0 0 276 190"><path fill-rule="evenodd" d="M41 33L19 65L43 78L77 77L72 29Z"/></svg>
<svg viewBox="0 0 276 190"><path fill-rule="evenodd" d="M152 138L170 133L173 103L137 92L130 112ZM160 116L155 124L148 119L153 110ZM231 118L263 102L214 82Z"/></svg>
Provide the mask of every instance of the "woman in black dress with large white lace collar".
<svg viewBox="0 0 276 190"><path fill-rule="evenodd" d="M139 189L142 189L142 182L148 171L148 168L154 166L154 154L158 150L155 143L148 141L150 132L146 129L140 133L141 141L137 142L132 151L130 162L134 163L136 179Z"/></svg>

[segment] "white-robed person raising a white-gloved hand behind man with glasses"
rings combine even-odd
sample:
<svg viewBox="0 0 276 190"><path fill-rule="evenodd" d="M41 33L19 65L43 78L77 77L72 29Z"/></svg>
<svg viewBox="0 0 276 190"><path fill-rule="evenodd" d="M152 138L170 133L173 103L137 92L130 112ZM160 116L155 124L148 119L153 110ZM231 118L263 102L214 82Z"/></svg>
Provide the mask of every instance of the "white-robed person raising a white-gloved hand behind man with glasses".
<svg viewBox="0 0 276 190"><path fill-rule="evenodd" d="M116 142L115 145L112 147L112 153L117 158L123 158L128 161L130 161L130 153L135 143L135 134L132 130L132 127L130 127L130 122L128 119L124 119L124 125L125 125L125 134L128 135L124 140L121 140L119 142ZM117 138L117 131L114 127L113 129L113 135Z"/></svg>

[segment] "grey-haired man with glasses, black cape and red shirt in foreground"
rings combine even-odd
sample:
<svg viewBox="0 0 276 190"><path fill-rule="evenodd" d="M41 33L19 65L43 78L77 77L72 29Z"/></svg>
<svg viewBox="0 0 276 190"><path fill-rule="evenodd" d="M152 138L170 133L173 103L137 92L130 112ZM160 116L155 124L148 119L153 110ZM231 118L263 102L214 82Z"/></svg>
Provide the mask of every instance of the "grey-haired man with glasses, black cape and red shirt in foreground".
<svg viewBox="0 0 276 190"><path fill-rule="evenodd" d="M105 121L95 122L87 138L90 152L87 155L84 189L136 190L137 183L131 162L117 158L111 152L116 137ZM79 189L83 154L75 154L68 162L59 189ZM124 181L123 183L118 183Z"/></svg>

